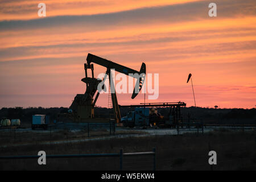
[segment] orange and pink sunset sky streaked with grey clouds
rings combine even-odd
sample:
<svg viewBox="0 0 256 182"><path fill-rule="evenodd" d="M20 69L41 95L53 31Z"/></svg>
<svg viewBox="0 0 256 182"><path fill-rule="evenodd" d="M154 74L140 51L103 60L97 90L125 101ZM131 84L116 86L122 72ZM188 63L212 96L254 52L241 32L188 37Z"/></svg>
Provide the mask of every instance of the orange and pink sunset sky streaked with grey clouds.
<svg viewBox="0 0 256 182"><path fill-rule="evenodd" d="M211 2L217 17L208 15ZM85 92L88 53L159 73L159 98L146 102L194 105L192 73L197 106L256 105L255 0L1 0L0 43L0 108L69 107ZM120 105L144 100L117 97ZM108 106L108 94L96 105Z"/></svg>

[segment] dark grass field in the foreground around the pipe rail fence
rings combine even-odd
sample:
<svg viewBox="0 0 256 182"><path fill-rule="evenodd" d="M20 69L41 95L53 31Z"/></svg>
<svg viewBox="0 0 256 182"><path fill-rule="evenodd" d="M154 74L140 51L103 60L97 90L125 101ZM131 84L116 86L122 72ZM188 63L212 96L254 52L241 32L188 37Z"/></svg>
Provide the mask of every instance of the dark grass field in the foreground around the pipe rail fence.
<svg viewBox="0 0 256 182"><path fill-rule="evenodd" d="M0 148L0 155L100 154L152 151L156 148L157 170L211 170L208 152L217 152L213 170L255 170L256 132L216 130L204 135L164 135L140 138L97 140L65 144L32 144L31 146ZM123 169L152 169L151 156L124 157ZM39 166L37 159L1 160L1 170L118 170L119 158L47 159Z"/></svg>

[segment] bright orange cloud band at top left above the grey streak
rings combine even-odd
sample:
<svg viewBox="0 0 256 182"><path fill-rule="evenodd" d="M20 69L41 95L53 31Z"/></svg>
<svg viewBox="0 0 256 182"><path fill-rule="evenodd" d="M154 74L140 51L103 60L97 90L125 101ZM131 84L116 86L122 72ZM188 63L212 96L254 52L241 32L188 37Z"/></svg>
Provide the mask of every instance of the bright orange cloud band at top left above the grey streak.
<svg viewBox="0 0 256 182"><path fill-rule="evenodd" d="M63 15L94 15L108 14L145 7L177 5L200 0L162 0L162 1L115 1L115 0L44 0L47 7L47 16ZM7 1L2 2L0 20L27 20L38 18L38 1Z"/></svg>

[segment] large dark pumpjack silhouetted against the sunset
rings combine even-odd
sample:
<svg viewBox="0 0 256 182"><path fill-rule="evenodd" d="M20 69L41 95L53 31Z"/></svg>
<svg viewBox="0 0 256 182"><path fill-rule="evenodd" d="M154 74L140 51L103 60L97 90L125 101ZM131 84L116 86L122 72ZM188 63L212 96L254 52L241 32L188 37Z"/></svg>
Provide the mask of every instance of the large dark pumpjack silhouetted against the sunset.
<svg viewBox="0 0 256 182"><path fill-rule="evenodd" d="M104 85L104 82L107 76L109 77L109 84L113 83L111 69L114 69L114 71L123 73L125 75L137 78L133 94L131 96L132 99L134 99L142 89L146 77L146 64L144 63L142 63L141 69L139 71L136 71L134 69L125 67L123 65L114 63L113 61L109 61L104 58L92 55L90 53L88 53L86 60L87 63L84 64L85 78L82 78L81 80L86 84L86 91L84 94L77 94L71 106L69 107L68 118L69 120L72 119L73 122L97 122L97 119L94 118L94 107L96 106L98 96L100 95L98 85L100 83L103 84L102 89L105 90L106 87ZM91 63L95 63L106 68L106 74L103 80L98 80L94 77L94 67ZM88 69L91 70L92 77L88 77ZM117 101L117 95L115 94L114 84L110 84L110 89L112 105L114 110L114 119L116 123L120 123L121 114ZM95 94L96 96L94 97ZM59 115L59 117L61 117L61 115ZM67 115L65 117L67 117Z"/></svg>

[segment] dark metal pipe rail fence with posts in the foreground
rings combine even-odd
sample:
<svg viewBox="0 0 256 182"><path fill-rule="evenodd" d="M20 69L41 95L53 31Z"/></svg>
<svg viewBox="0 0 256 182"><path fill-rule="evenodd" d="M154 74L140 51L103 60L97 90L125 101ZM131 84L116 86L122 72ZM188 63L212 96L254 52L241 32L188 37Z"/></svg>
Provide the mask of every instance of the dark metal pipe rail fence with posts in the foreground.
<svg viewBox="0 0 256 182"><path fill-rule="evenodd" d="M72 155L46 155L48 159L56 159L56 158L119 158L119 170L123 170L123 158L130 158L131 156L152 156L152 170L156 169L156 158L155 158L155 148L151 152L131 152L131 153L123 153L121 149L119 153L113 154L72 154ZM16 156L0 156L0 160L6 159L38 159L39 155L16 155Z"/></svg>

